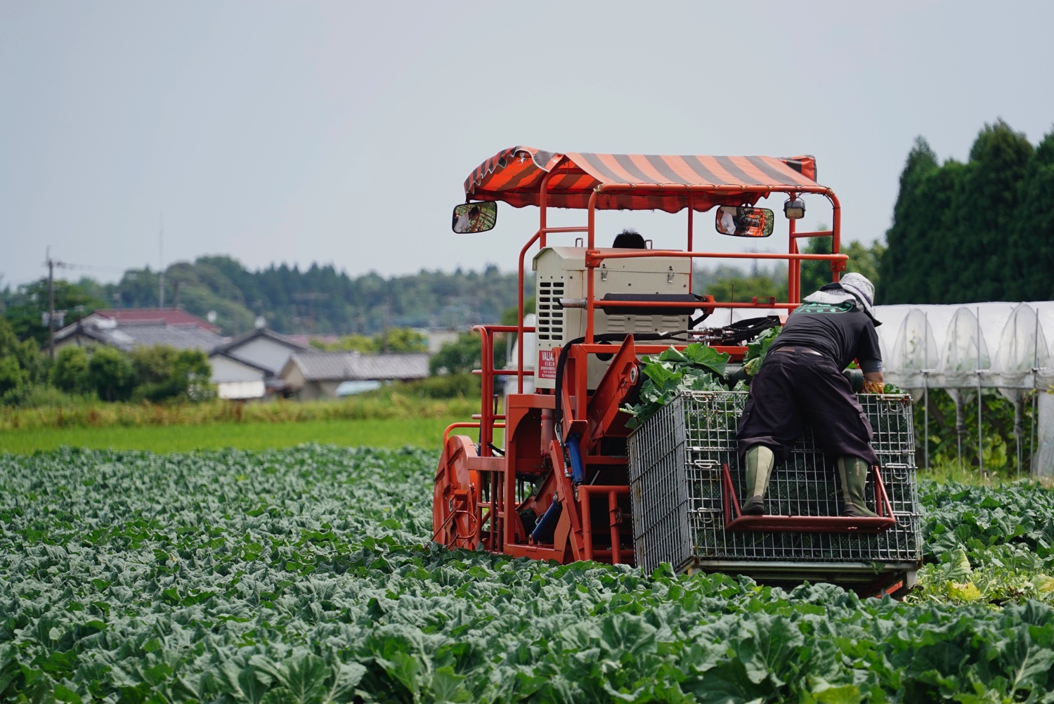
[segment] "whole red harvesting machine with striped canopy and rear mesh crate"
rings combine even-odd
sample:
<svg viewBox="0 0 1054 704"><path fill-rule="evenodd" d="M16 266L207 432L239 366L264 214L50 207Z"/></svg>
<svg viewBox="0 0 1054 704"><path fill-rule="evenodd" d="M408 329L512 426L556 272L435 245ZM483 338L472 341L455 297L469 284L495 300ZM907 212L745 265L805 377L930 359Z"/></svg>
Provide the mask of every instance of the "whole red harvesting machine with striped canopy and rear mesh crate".
<svg viewBox="0 0 1054 704"><path fill-rule="evenodd" d="M711 209L719 233L770 235L773 211L755 206L774 194L786 196L785 253L694 250L695 215ZM816 181L813 157L559 154L514 146L472 171L465 195L454 209L454 232L492 229L499 201L538 207L539 227L520 251L520 322L474 328L482 337L483 403L472 423L453 424L444 434L434 541L559 563L646 569L668 563L767 584L834 582L861 594L914 584L921 543L909 396L860 396L881 459L868 481L875 519L840 515L836 472L825 466L811 431L774 472L773 515L741 514L736 425L746 392L681 393L636 430L619 410L637 397L642 355L703 341L727 353L735 370L752 337L780 325L799 305L803 260L827 262L838 280L847 259L840 251L840 204ZM797 231L805 196L829 202L829 231ZM550 208L584 210L585 223L550 227ZM599 210L684 211L686 247L601 247ZM801 252L799 241L811 237L829 237L832 253ZM527 327L525 263L535 247L536 324ZM786 261L786 302L695 294L692 260L706 258ZM743 309L769 315L707 326L730 318L729 310L743 315ZM721 310L725 315L715 316ZM503 333L521 343L512 369L493 364L495 335ZM530 333L534 358L525 359L524 335ZM499 377L511 385L504 408L495 393ZM453 434L458 428L477 434Z"/></svg>

